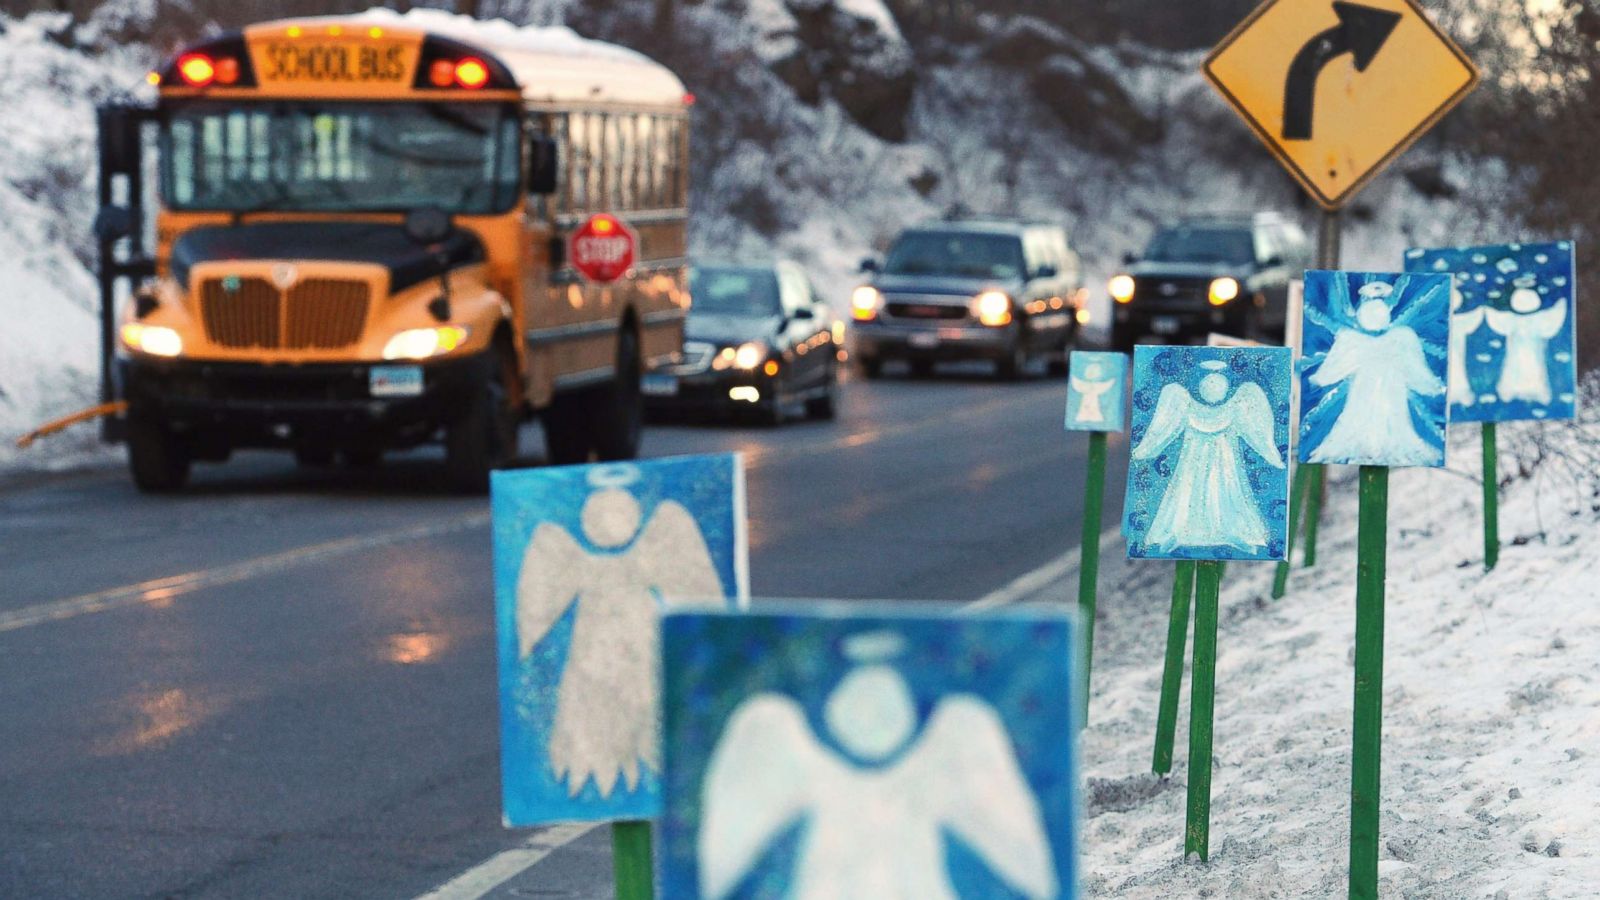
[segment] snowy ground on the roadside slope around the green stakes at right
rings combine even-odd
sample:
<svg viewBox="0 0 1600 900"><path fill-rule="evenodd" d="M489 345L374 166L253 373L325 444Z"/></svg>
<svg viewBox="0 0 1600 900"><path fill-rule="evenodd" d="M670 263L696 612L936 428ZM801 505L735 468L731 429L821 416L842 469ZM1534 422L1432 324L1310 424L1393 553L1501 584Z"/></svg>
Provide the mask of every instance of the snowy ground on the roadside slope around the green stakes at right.
<svg viewBox="0 0 1600 900"><path fill-rule="evenodd" d="M1477 426L1454 431L1450 471L1392 474L1384 897L1597 895L1597 394L1582 428L1501 426L1502 479L1528 474L1504 493L1491 573ZM1286 597L1270 599L1272 565L1227 569L1210 865L1182 862L1187 673L1173 775L1149 775L1171 565L1118 564L1102 581L1083 740L1086 895L1344 895L1357 504L1354 469L1334 472L1317 565L1294 570Z"/></svg>

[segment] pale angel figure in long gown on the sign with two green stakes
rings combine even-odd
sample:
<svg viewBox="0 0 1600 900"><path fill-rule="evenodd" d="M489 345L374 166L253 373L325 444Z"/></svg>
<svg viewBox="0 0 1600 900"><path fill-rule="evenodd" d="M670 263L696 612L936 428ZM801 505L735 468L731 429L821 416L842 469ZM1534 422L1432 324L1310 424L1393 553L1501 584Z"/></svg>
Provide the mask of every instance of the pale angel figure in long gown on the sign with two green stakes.
<svg viewBox="0 0 1600 900"><path fill-rule="evenodd" d="M1134 460L1154 460L1168 444L1182 440L1146 541L1163 552L1176 548L1266 548L1267 525L1238 445L1250 447L1269 466L1285 466L1274 440L1272 402L1254 383L1240 384L1229 397L1229 380L1221 373L1227 364L1206 360L1200 365L1211 370L1200 380L1200 399L1182 384L1162 388L1150 428L1133 448Z"/></svg>

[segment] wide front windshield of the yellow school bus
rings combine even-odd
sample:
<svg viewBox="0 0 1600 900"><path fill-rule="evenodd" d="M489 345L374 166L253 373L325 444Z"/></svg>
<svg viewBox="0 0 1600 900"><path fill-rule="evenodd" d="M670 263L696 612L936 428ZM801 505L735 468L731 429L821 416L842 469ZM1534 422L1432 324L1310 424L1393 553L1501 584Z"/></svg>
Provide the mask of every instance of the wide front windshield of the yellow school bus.
<svg viewBox="0 0 1600 900"><path fill-rule="evenodd" d="M491 102L173 104L162 192L173 210L502 213L518 130Z"/></svg>

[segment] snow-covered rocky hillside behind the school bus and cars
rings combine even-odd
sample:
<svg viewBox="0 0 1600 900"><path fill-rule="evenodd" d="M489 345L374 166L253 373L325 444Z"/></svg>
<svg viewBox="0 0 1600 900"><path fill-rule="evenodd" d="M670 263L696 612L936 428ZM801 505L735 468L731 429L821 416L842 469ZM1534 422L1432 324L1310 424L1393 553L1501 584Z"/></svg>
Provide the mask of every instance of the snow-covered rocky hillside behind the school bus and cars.
<svg viewBox="0 0 1600 900"><path fill-rule="evenodd" d="M27 323L0 331L0 436L93 399L93 107L141 86L154 54L109 35L152 8L125 0L70 32L59 16L0 16L0 309ZM958 210L1067 224L1101 320L1104 279L1163 219L1277 208L1314 224L1288 178L1203 85L1195 54L1090 45L994 16L970 40L914 48L882 0L678 10L672 45L650 29L651 0L546 0L531 21L678 70L699 98L693 251L790 256L840 307L864 255L907 224ZM517 40L506 22L424 14ZM1474 184L1475 200L1429 200L1400 173L1379 179L1347 216L1349 267L1394 267L1406 245L1512 237L1494 165L1427 147L1405 160L1421 163L1435 181ZM0 464L53 458L90 431L22 456L3 442Z"/></svg>

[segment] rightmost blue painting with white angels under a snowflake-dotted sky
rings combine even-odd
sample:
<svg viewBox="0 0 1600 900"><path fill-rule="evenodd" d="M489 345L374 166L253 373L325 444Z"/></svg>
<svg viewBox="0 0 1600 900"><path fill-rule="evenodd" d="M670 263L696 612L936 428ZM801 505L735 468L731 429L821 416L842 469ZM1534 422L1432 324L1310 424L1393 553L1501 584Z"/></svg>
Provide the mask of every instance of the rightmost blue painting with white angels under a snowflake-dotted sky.
<svg viewBox="0 0 1600 900"><path fill-rule="evenodd" d="M1405 267L1456 282L1450 421L1578 415L1573 242L1406 250Z"/></svg>

